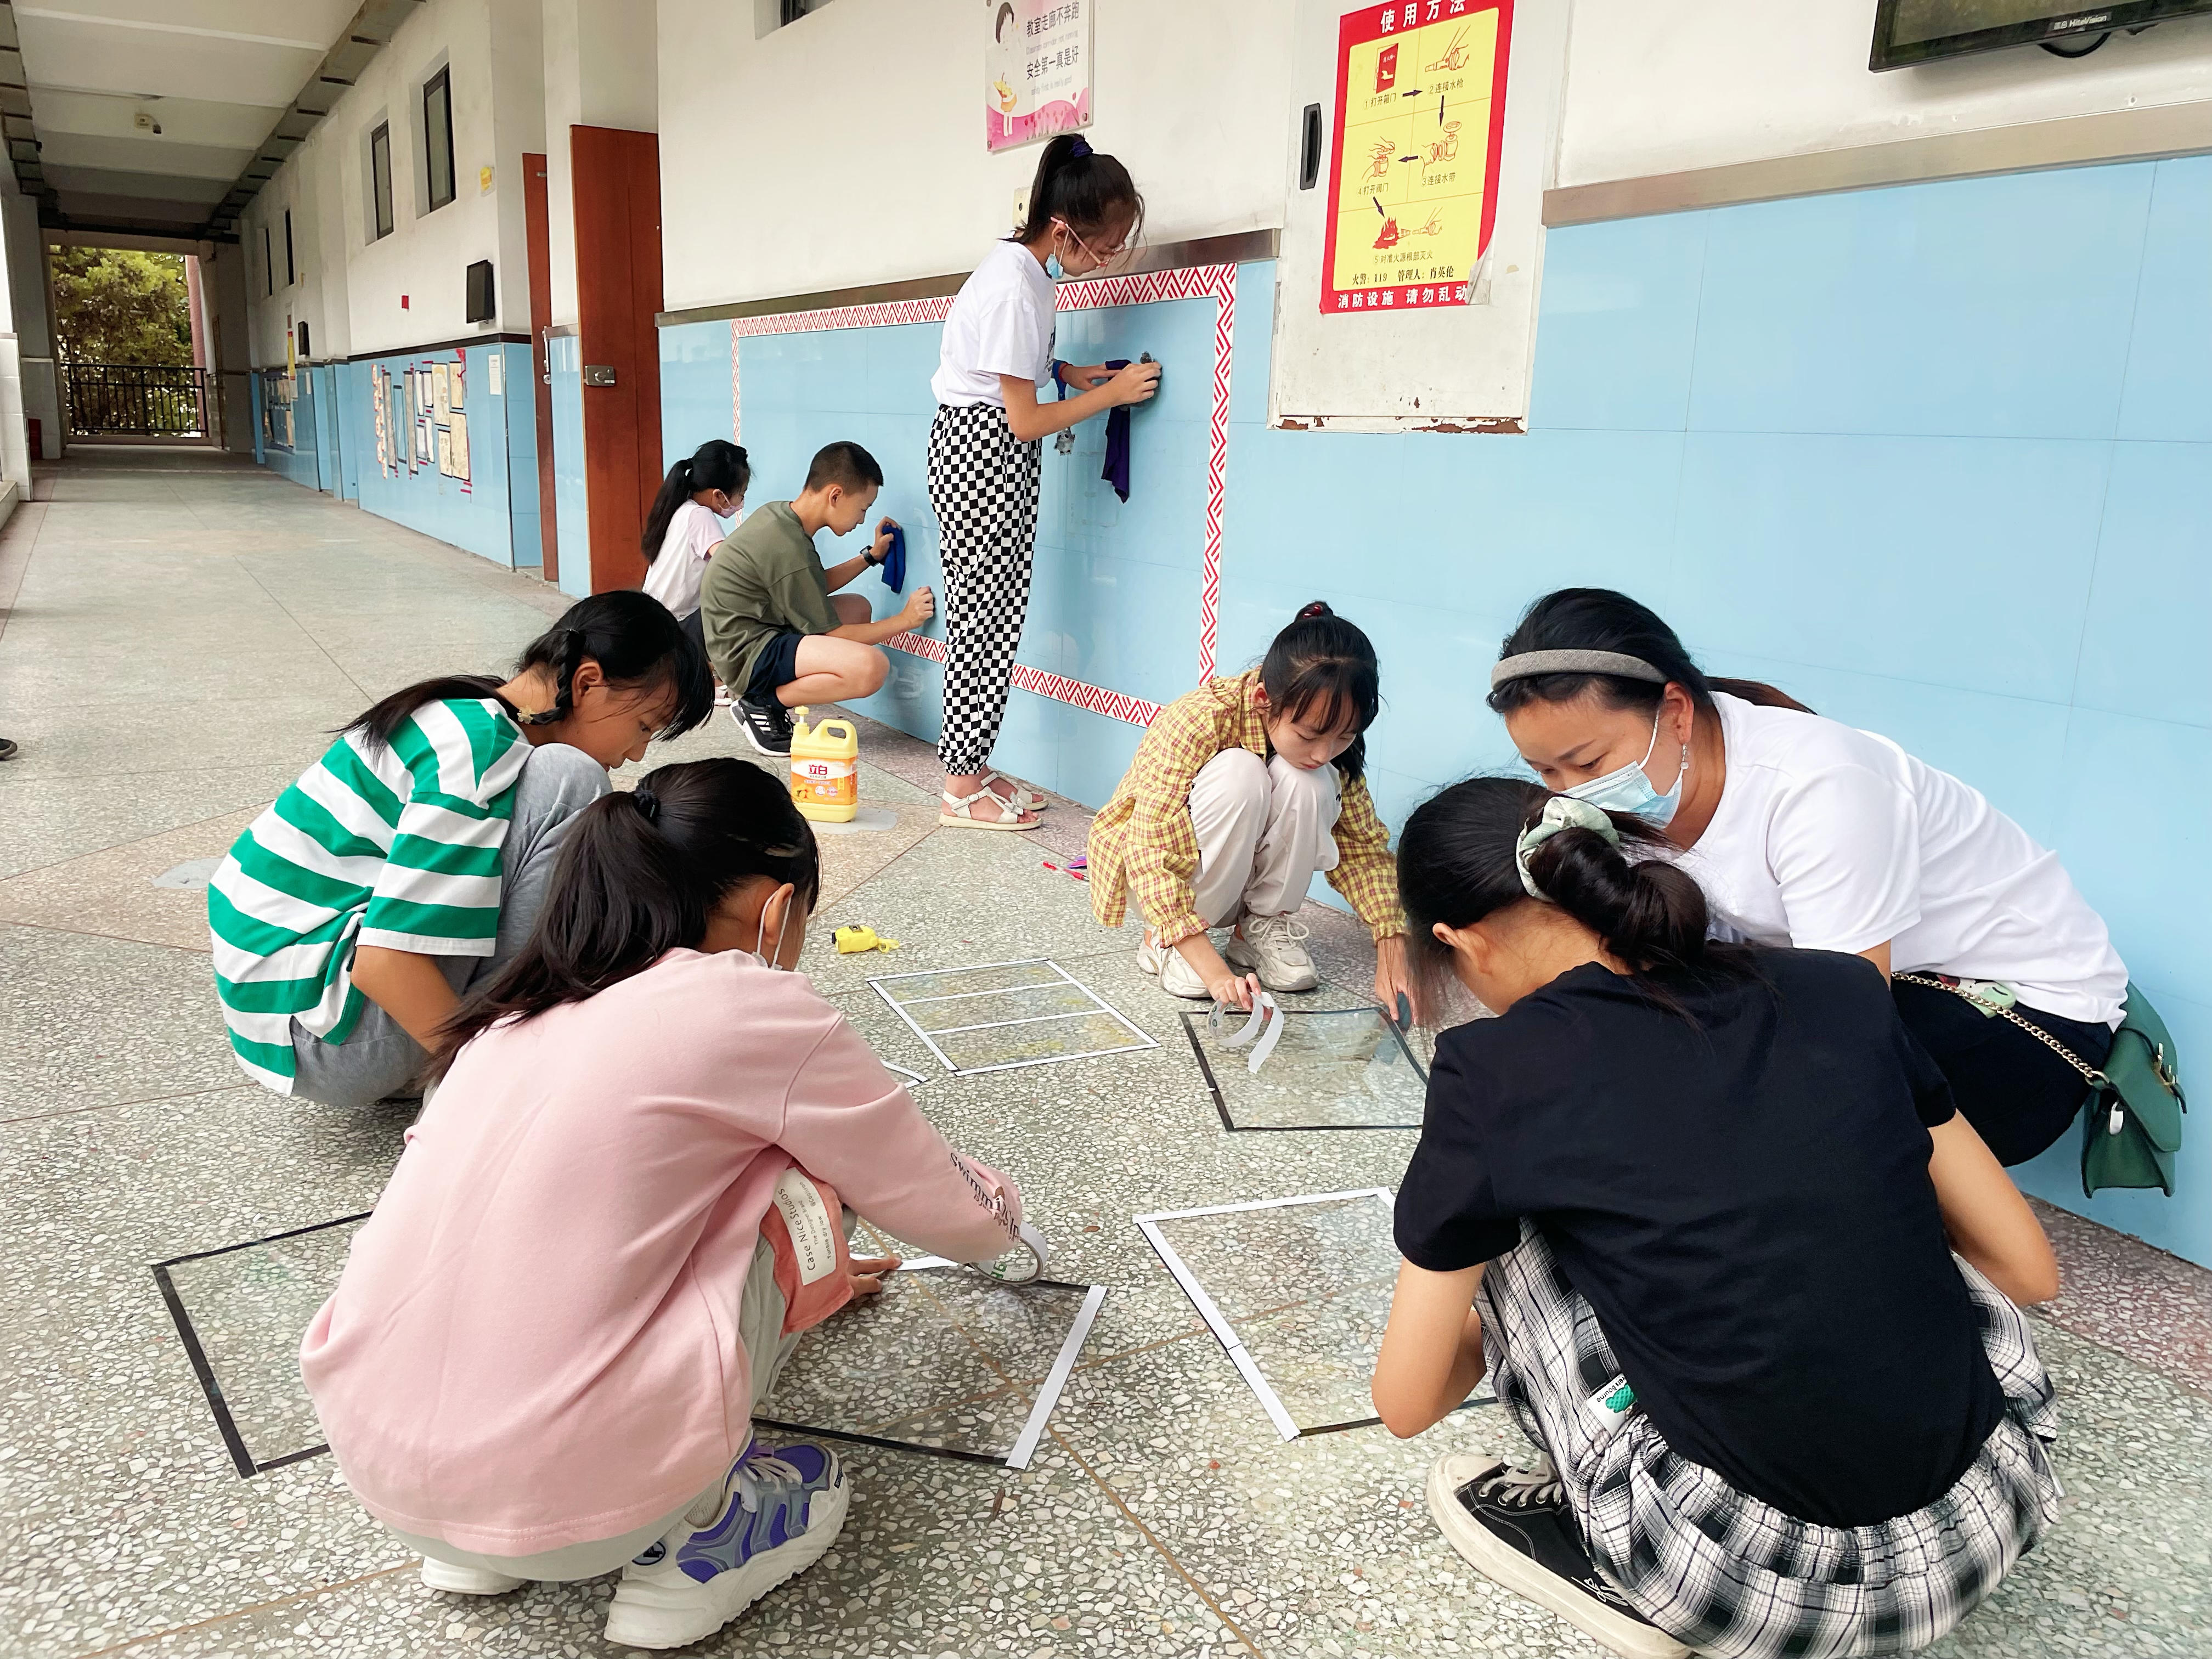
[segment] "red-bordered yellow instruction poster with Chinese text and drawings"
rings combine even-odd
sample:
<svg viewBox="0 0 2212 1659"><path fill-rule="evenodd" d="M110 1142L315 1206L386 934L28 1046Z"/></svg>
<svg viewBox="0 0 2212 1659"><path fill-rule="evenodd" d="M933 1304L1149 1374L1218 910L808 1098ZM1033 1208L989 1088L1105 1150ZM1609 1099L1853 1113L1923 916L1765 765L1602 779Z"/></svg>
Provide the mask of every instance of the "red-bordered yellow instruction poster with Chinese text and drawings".
<svg viewBox="0 0 2212 1659"><path fill-rule="evenodd" d="M1498 219L1513 0L1347 11L1321 310L1464 305Z"/></svg>

